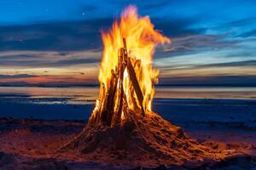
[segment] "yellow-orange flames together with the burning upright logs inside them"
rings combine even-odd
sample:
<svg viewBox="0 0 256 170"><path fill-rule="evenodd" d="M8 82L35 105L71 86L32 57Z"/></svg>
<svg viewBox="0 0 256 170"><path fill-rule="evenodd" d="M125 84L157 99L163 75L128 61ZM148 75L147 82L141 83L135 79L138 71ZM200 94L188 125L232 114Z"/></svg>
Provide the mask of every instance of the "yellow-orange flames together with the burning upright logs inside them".
<svg viewBox="0 0 256 170"><path fill-rule="evenodd" d="M137 8L129 6L121 14L121 19L113 23L110 31L102 31L102 41L100 96L90 122L92 119L98 122L95 121L99 119L96 116L104 117L102 114L110 117L118 114L117 119L124 120L124 107L125 110L140 109L145 114L149 113L154 82L158 81L159 74L152 66L154 48L158 43L170 43L170 39L154 30L148 16L139 17Z"/></svg>

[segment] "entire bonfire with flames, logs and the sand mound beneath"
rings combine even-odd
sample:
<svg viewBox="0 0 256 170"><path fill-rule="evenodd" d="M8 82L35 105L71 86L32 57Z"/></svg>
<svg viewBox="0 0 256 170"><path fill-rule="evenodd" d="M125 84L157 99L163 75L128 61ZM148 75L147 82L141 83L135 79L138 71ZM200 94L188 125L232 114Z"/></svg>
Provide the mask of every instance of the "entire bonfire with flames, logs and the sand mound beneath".
<svg viewBox="0 0 256 170"><path fill-rule="evenodd" d="M228 154L200 144L152 111L159 75L153 68L154 50L171 40L154 29L148 16L138 16L134 6L125 8L120 20L102 31L102 41L96 107L83 132L62 151L73 150L96 161L141 165L218 160Z"/></svg>

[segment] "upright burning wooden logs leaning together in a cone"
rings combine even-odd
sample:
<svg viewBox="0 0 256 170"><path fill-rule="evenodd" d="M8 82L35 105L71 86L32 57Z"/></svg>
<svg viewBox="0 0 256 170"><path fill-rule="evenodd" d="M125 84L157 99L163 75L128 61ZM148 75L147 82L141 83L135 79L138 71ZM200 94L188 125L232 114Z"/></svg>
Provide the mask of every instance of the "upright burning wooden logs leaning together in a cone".
<svg viewBox="0 0 256 170"><path fill-rule="evenodd" d="M143 92L137 80L134 66L131 63L131 58L128 56L125 38L123 38L124 47L119 48L119 61L115 71L111 71L112 77L109 81L109 88L104 84L101 85L100 96L104 96L107 90L107 96L104 96L100 101L100 106L94 116L90 117L90 124L97 124L102 122L108 126L114 126L120 123L122 114L127 114L128 99L124 90L124 72L127 70L131 85L137 95L139 106L136 99L132 98L131 101L136 108L139 108L142 116L145 116L143 106Z"/></svg>

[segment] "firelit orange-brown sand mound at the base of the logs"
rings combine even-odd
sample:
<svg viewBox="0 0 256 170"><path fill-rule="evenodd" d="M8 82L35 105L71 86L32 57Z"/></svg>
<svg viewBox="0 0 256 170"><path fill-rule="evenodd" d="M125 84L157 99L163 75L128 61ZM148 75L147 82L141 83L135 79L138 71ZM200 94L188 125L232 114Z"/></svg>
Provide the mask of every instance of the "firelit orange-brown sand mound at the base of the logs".
<svg viewBox="0 0 256 170"><path fill-rule="evenodd" d="M183 133L181 127L152 112L146 118L129 114L115 127L98 124L85 127L61 151L77 153L96 161L140 165L183 164L187 161L218 161L228 150L212 149Z"/></svg>

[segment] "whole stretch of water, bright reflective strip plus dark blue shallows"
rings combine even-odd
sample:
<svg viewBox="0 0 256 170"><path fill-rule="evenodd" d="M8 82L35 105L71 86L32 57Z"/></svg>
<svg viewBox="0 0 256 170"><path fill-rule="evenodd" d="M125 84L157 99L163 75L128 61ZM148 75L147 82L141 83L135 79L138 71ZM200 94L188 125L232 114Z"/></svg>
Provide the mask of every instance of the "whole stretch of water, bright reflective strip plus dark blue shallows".
<svg viewBox="0 0 256 170"><path fill-rule="evenodd" d="M97 87L0 87L0 117L86 120L98 92ZM224 121L236 121L256 115L256 88L157 87L153 110L174 121L219 121L224 113Z"/></svg>

